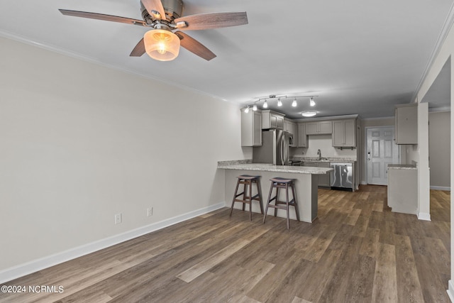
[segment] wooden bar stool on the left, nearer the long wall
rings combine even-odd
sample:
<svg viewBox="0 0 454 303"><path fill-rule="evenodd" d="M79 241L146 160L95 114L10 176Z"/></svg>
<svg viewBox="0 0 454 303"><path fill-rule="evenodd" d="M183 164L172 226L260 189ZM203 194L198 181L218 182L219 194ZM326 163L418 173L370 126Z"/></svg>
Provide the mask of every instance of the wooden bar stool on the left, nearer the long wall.
<svg viewBox="0 0 454 303"><path fill-rule="evenodd" d="M253 183L257 186L257 194L253 197ZM238 187L240 184L243 184L243 192L238 194ZM249 192L248 192L249 189ZM239 199L238 197L243 194L243 199ZM262 190L260 189L260 176L250 176L250 175L240 175L238 176L238 182L236 182L236 189L235 194L233 194L233 201L230 210L230 216L232 216L233 211L233 204L235 202L243 203L243 211L245 209L245 204L249 204L249 221L253 221L253 210L252 210L252 202L258 201L260 204L260 211L263 214L263 205L262 205Z"/></svg>

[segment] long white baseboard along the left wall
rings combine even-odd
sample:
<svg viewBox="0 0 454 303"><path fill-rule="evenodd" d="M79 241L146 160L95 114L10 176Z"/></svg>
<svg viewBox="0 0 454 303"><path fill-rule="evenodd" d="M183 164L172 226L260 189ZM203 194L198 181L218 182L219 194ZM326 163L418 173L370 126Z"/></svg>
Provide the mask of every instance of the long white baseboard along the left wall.
<svg viewBox="0 0 454 303"><path fill-rule="evenodd" d="M182 214L175 216L170 219L166 219L160 222L156 222L147 226L140 228L135 228L131 231L126 231L125 233L119 233L118 235L111 236L109 238L104 238L99 241L94 241L92 243L87 243L83 246L78 246L70 250L62 251L61 253L56 253L54 255L49 255L48 257L40 258L38 260L33 260L28 263L14 266L13 268L7 268L6 270L0 271L0 283L8 282L18 277L23 277L24 275L37 272L38 270L43 270L44 268L50 268L53 265L57 265L68 260L79 258L82 255L87 255L89 253L94 253L97 250L103 248L108 248L109 246L114 246L118 243L137 238L138 236L143 236L152 231L157 231L159 229L165 228L177 224L188 219L192 219L201 214L209 213L210 211L215 211L216 209L221 209L226 206L225 202L218 204L206 206L201 209L196 209L195 211L190 211L187 214Z"/></svg>

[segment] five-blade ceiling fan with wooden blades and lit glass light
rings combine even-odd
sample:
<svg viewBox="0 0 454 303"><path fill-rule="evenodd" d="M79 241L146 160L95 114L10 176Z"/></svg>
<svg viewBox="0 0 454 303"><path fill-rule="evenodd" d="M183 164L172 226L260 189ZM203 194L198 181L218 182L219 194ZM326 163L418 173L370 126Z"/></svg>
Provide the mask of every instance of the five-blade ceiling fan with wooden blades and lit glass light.
<svg viewBox="0 0 454 303"><path fill-rule="evenodd" d="M245 12L199 13L182 16L182 0L140 0L140 10L142 11L143 20L111 16L103 13L59 9L66 16L114 21L153 28L145 33L142 40L135 45L130 56L140 57L147 53L153 59L160 61L174 60L178 56L180 45L205 60L211 60L216 57L211 50L182 31L248 24L248 16L246 16Z"/></svg>

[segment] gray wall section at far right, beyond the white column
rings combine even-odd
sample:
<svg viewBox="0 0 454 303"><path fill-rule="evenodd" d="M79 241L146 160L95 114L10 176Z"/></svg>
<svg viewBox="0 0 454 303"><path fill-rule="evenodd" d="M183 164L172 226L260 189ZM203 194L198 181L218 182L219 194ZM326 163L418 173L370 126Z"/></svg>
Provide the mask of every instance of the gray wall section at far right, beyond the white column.
<svg viewBox="0 0 454 303"><path fill-rule="evenodd" d="M428 115L431 188L450 189L450 111Z"/></svg>

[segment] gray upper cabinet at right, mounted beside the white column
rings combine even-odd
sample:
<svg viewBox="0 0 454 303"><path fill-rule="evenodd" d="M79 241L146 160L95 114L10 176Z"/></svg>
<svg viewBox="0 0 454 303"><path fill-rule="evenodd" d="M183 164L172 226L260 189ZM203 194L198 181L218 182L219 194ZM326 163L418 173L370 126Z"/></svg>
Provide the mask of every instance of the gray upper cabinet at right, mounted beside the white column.
<svg viewBox="0 0 454 303"><path fill-rule="evenodd" d="M395 109L397 144L418 144L418 104L397 105Z"/></svg>

